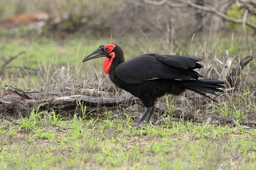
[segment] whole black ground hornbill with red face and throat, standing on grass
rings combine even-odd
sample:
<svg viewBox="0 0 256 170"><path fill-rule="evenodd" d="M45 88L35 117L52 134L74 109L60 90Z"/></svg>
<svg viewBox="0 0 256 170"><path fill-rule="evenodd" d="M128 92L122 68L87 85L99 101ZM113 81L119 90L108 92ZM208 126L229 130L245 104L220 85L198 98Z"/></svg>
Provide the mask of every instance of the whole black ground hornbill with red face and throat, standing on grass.
<svg viewBox="0 0 256 170"><path fill-rule="evenodd" d="M138 97L146 107L136 127L140 126L147 115L150 123L158 97L165 94L179 95L186 89L207 96L201 91L215 94L215 91L223 91L219 88L224 88L220 85L224 82L220 80L198 80L202 76L194 69L203 68L203 65L197 63L202 60L198 57L150 53L140 54L125 62L122 49L116 44L108 44L99 46L83 62L99 57L106 57L103 70L109 74L111 81Z"/></svg>

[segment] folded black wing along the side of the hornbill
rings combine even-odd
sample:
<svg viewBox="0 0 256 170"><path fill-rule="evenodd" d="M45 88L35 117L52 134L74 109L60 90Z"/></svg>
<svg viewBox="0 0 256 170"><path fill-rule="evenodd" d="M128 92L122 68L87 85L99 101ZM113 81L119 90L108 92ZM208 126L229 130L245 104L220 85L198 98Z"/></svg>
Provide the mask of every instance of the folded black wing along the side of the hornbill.
<svg viewBox="0 0 256 170"><path fill-rule="evenodd" d="M192 70L199 68L196 62L200 60L197 57L141 54L119 64L115 68L115 73L116 77L128 84L139 84L159 78L191 79L202 77Z"/></svg>

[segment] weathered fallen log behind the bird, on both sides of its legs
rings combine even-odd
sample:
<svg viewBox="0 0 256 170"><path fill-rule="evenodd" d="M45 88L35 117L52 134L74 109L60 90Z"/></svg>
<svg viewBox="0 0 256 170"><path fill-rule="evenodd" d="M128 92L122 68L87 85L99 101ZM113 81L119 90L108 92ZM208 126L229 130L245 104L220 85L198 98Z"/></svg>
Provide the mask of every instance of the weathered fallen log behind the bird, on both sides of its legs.
<svg viewBox="0 0 256 170"><path fill-rule="evenodd" d="M45 95L46 94L46 95ZM44 96L45 98L41 98ZM25 91L15 87L0 88L0 112L10 113L14 116L29 116L29 113L35 109L39 111L51 111L54 108L58 112L72 113L81 105L88 106L86 111L116 110L118 107L127 109L132 105L142 105L140 100L134 96L116 96L102 98L86 95L62 96L61 93L51 91ZM156 112L163 115L169 108L161 102L156 103ZM172 108L172 113L183 119L194 121L201 120L201 116L196 113L183 111L180 108Z"/></svg>

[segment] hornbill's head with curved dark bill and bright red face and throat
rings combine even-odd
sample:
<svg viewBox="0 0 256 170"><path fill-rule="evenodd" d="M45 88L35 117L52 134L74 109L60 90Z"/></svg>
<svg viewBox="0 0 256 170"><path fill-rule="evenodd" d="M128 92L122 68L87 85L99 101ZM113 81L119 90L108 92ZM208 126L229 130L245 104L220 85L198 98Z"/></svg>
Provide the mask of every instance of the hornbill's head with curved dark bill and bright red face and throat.
<svg viewBox="0 0 256 170"><path fill-rule="evenodd" d="M97 48L95 51L93 51L91 54L87 55L83 62L86 62L90 59L96 59L99 57L106 57L103 62L103 71L108 74L110 66L113 62L113 59L115 58L116 53L120 53L118 57L121 58L121 62L124 62L123 52L122 49L116 45L116 44L107 44L107 45L100 45L99 48ZM116 57L116 58L118 58ZM119 64L119 63L118 63Z"/></svg>

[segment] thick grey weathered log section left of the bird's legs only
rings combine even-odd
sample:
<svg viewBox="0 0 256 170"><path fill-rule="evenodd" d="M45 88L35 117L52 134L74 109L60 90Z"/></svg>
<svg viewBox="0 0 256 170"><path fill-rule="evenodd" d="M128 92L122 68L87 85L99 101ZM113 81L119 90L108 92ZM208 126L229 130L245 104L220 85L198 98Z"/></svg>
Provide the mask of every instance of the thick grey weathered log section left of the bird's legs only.
<svg viewBox="0 0 256 170"><path fill-rule="evenodd" d="M41 98L44 96L44 98ZM137 99L138 100L138 99ZM29 116L32 109L50 111L58 108L59 111L74 111L77 105L90 106L92 109L109 107L112 109L121 104L129 103L134 105L136 99L133 96L118 96L112 98L101 98L85 95L62 96L61 93L52 91L25 91L19 88L0 88L0 112L11 113L12 115Z"/></svg>

